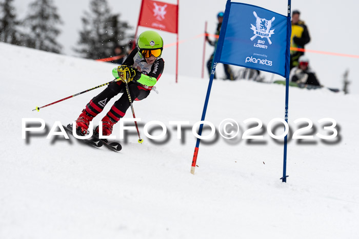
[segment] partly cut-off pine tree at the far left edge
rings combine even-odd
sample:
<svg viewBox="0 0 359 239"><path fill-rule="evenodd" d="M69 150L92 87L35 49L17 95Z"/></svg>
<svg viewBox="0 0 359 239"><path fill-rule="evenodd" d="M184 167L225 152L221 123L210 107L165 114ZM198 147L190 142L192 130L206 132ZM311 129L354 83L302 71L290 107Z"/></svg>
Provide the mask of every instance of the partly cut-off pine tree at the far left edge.
<svg viewBox="0 0 359 239"><path fill-rule="evenodd" d="M0 2L0 41L20 45L21 36L17 31L19 21L16 20L13 0Z"/></svg>

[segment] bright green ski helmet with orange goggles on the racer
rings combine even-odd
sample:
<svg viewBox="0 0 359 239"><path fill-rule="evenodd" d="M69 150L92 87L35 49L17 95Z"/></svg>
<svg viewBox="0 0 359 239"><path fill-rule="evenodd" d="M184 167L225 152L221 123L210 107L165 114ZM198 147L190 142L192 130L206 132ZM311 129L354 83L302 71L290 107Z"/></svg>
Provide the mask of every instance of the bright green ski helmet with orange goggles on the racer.
<svg viewBox="0 0 359 239"><path fill-rule="evenodd" d="M161 57L163 50L163 39L155 31L144 31L137 38L137 49L142 58Z"/></svg>

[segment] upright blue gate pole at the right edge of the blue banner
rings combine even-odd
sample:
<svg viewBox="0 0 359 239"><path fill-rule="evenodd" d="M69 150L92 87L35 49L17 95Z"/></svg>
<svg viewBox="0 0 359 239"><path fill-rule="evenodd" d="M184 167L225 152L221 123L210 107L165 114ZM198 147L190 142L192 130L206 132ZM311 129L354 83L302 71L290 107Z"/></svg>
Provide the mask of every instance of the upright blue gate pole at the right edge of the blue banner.
<svg viewBox="0 0 359 239"><path fill-rule="evenodd" d="M286 50L286 105L285 105L285 114L284 119L288 123L288 95L289 95L289 71L290 71L290 35L292 30L292 24L290 20L290 9L291 9L291 0L288 0L288 16L287 16L287 50ZM284 137L284 156L283 156L283 177L282 182L287 182L287 142L288 134Z"/></svg>

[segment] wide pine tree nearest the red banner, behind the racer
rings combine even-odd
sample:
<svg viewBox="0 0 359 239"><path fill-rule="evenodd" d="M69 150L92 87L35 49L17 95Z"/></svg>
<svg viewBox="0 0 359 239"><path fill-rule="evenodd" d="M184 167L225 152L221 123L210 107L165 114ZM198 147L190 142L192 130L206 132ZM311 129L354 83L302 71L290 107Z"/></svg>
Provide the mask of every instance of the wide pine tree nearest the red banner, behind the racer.
<svg viewBox="0 0 359 239"><path fill-rule="evenodd" d="M119 20L119 14L111 14L106 0L92 0L90 10L81 18L83 30L79 32L79 47L74 50L90 59L110 57L116 45L129 39L125 31L130 27Z"/></svg>

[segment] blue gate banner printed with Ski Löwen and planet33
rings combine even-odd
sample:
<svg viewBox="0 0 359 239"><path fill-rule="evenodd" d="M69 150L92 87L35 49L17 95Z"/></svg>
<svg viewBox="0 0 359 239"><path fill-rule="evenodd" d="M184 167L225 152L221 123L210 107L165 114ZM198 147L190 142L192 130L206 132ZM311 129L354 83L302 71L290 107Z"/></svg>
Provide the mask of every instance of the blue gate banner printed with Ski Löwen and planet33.
<svg viewBox="0 0 359 239"><path fill-rule="evenodd" d="M288 77L288 22L273 11L228 1L214 61Z"/></svg>

